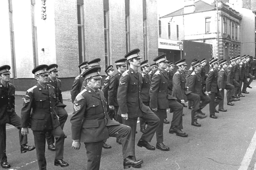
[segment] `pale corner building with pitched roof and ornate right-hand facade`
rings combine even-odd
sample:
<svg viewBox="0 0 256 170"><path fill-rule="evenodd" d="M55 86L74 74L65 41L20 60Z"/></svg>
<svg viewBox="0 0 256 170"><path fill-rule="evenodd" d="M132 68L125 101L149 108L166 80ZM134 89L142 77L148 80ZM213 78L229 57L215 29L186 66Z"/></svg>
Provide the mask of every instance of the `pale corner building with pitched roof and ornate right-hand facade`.
<svg viewBox="0 0 256 170"><path fill-rule="evenodd" d="M179 30L181 39L212 44L213 57L230 59L240 54L242 16L224 2L218 2L218 23L216 2L208 4L202 0L185 0L184 8L160 20L179 25L183 31Z"/></svg>

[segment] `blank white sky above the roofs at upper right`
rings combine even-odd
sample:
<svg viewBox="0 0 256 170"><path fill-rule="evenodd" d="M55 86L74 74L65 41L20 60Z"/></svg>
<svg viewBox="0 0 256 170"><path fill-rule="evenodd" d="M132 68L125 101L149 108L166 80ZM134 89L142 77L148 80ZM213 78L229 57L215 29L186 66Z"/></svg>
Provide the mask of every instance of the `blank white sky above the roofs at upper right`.
<svg viewBox="0 0 256 170"><path fill-rule="evenodd" d="M195 0L195 2L198 0ZM214 0L203 0L212 4ZM157 0L158 16L162 17L184 7L184 0Z"/></svg>

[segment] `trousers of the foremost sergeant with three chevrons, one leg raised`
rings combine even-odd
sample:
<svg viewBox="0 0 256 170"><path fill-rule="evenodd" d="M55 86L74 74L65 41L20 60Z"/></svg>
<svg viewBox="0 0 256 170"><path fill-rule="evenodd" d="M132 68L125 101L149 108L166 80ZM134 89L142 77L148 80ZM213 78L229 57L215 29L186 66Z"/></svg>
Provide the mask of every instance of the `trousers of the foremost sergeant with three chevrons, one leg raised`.
<svg viewBox="0 0 256 170"><path fill-rule="evenodd" d="M122 142L123 159L128 156L135 156L134 143L132 143L131 127L126 125L108 126L110 137L120 138ZM94 143L84 143L87 155L87 170L99 170L102 153L102 141Z"/></svg>

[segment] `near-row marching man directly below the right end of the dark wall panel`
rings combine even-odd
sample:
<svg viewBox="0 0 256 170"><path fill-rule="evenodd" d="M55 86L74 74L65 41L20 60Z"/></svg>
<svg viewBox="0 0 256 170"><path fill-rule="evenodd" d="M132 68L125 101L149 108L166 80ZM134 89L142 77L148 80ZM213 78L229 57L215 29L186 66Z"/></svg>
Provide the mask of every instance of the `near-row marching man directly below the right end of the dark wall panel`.
<svg viewBox="0 0 256 170"><path fill-rule="evenodd" d="M211 101L209 104L210 118L217 119L215 115L216 109L219 102L222 100L222 95L218 89L218 59L212 58L209 62L212 68L208 72L208 77L206 78L206 92L208 93Z"/></svg>

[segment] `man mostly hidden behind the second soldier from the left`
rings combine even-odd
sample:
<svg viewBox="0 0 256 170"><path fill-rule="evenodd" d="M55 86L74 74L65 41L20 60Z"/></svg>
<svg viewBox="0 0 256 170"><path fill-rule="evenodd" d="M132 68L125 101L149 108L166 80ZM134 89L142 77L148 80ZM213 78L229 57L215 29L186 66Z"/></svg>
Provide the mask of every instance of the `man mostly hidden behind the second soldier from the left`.
<svg viewBox="0 0 256 170"><path fill-rule="evenodd" d="M50 64L48 66L48 84L51 86L54 86L54 93L56 97L56 107L57 107L57 115L59 117L60 127L63 130L64 124L68 118L68 113L64 109L66 107L65 104L63 104L62 94L61 94L61 81L58 79L58 65L57 64ZM66 135L65 135L66 138ZM54 143L54 136L51 133L46 133L46 140L48 143L48 149L49 150L56 150L56 147L53 145ZM50 144L50 145L49 145Z"/></svg>

